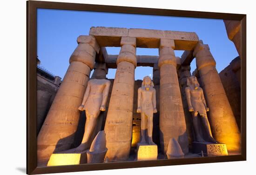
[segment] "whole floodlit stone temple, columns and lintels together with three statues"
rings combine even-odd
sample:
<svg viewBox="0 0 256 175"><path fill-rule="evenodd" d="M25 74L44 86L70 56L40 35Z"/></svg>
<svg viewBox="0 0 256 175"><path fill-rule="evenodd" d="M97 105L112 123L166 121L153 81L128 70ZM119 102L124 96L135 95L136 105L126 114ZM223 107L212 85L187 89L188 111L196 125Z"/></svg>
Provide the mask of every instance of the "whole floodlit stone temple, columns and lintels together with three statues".
<svg viewBox="0 0 256 175"><path fill-rule="evenodd" d="M209 156L240 153L240 124L209 46L195 32L92 27L77 43L37 138L39 166L49 159L60 165L63 154L79 164L86 153L98 162L198 156L198 148ZM121 50L108 55L105 47ZM159 56L136 55L136 48L157 48ZM184 50L182 57L174 50ZM153 80L135 81L138 66L152 67ZM114 80L108 68L116 69Z"/></svg>

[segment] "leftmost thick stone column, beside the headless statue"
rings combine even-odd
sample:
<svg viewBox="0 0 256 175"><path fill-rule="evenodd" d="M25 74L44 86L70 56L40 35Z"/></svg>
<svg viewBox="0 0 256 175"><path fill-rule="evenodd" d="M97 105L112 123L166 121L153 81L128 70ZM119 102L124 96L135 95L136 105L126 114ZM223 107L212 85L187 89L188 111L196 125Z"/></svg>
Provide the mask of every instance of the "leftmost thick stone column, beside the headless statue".
<svg viewBox="0 0 256 175"><path fill-rule="evenodd" d="M93 36L77 38L78 46L37 137L38 165L46 165L53 152L68 150L74 143L81 105L95 54L99 46Z"/></svg>

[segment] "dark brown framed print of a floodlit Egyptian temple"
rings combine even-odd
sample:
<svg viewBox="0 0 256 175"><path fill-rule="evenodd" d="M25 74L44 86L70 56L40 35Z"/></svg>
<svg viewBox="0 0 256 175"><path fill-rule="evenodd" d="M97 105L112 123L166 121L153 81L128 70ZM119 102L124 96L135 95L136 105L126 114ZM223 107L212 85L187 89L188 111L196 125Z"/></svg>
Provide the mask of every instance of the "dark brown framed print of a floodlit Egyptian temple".
<svg viewBox="0 0 256 175"><path fill-rule="evenodd" d="M27 1L27 174L246 160L246 15Z"/></svg>

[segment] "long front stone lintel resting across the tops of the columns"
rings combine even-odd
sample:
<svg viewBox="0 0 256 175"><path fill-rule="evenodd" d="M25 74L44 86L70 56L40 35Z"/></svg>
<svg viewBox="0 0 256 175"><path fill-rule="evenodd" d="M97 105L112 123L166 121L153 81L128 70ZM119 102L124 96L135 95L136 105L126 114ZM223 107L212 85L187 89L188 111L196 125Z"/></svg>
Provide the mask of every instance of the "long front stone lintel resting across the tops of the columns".
<svg viewBox="0 0 256 175"><path fill-rule="evenodd" d="M175 50L193 50L199 38L195 32L127 29L115 27L91 27L100 47L120 47L122 37L136 38L136 47L159 48L160 40L174 40Z"/></svg>

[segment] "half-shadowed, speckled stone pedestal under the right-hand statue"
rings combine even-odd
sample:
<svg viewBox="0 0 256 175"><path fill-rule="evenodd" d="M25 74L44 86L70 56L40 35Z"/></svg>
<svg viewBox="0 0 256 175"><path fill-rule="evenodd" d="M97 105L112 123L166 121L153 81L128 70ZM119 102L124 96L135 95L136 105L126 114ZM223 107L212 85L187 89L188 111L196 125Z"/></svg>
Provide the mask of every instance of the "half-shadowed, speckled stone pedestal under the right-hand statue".
<svg viewBox="0 0 256 175"><path fill-rule="evenodd" d="M226 144L193 142L192 146L194 153L201 153L203 151L205 156L228 156Z"/></svg>

